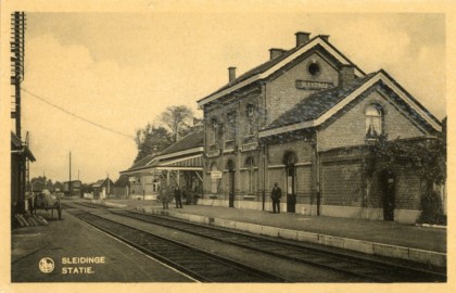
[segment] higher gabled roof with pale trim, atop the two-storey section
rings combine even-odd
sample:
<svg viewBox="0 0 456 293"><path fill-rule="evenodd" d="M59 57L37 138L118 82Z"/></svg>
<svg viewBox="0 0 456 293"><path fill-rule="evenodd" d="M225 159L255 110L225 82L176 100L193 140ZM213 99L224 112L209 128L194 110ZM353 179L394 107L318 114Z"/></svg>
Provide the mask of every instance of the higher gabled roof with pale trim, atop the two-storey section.
<svg viewBox="0 0 456 293"><path fill-rule="evenodd" d="M266 78L277 72L278 69L282 68L297 56L302 55L303 53L312 50L316 46L320 46L324 48L328 53L330 53L333 58L335 58L342 64L350 64L355 67L355 73L358 77L365 76L365 73L357 67L352 61L350 61L345 55L343 55L338 49L335 49L325 37L316 36L309 39L304 44L295 47L289 51L283 52L281 55L269 60L250 71L244 73L243 75L236 78L235 81L221 87L220 89L216 90L215 92L211 93L210 95L201 99L198 101L198 105L202 106L205 103L214 101L225 94L228 94L239 88L242 88L246 85L250 85L256 80Z"/></svg>

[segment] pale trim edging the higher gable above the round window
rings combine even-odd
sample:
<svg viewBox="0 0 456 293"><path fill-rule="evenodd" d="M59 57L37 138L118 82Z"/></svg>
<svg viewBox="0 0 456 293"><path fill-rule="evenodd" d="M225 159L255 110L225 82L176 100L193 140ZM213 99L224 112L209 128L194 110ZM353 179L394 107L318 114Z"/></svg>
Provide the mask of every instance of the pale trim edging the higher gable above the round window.
<svg viewBox="0 0 456 293"><path fill-rule="evenodd" d="M283 67L284 65L287 65L288 63L292 62L294 59L296 59L296 56L305 53L306 51L308 51L309 49L312 49L313 47L320 44L325 50L327 50L330 54L332 54L335 59L338 59L339 61L341 61L343 64L352 64L345 56L343 56L341 53L339 53L338 51L335 51L334 49L332 49L332 47L330 47L326 41L324 41L321 39L320 36L318 36L317 38L315 38L312 42L306 43L305 46L303 46L302 48L300 48L299 50L296 50L293 54L290 54L289 56L287 56L286 59L283 59L282 61L280 61L279 63L277 63L276 65L274 65L273 67L270 67L269 69L267 69L266 72L262 73L262 74L256 74L254 76L251 76L250 78L232 86L229 87L220 92L214 93L212 95L208 95L200 101L198 101L198 107L201 109L204 104L212 102L214 100L217 100L218 98L228 94L230 92L233 92L235 90L238 90L249 84L252 84L256 80L263 79L268 77L269 75L274 74L275 72L277 72L278 69L280 69L281 67ZM355 74L359 77L365 76L365 74L363 72L360 72L356 66L355 66Z"/></svg>

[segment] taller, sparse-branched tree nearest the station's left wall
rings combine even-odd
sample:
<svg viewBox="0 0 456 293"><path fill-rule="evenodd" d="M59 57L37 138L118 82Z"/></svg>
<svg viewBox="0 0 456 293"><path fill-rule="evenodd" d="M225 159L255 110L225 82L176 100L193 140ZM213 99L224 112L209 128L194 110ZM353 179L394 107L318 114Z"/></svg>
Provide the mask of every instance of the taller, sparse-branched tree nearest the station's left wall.
<svg viewBox="0 0 456 293"><path fill-rule="evenodd" d="M192 130L193 111L186 105L168 106L160 115L160 122L169 128L176 142Z"/></svg>

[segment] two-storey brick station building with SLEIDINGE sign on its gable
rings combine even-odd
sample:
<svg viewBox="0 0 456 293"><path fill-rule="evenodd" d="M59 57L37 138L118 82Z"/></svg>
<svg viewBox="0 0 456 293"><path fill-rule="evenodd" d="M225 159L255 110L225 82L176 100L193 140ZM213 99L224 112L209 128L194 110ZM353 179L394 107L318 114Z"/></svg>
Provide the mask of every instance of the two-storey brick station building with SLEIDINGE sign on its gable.
<svg viewBox="0 0 456 293"><path fill-rule="evenodd" d="M364 173L380 136L414 143L441 123L385 71L366 74L329 41L296 33L290 50L202 98L204 205L415 222L420 178L409 166Z"/></svg>

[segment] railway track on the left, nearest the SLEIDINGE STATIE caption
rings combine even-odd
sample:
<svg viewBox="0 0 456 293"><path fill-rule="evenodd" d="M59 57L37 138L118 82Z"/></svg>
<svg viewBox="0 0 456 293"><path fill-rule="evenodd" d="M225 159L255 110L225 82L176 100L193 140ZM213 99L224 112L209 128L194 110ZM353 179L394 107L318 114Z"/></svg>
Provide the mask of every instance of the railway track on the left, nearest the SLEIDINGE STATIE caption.
<svg viewBox="0 0 456 293"><path fill-rule="evenodd" d="M201 282L290 282L273 273L87 211L66 212Z"/></svg>

